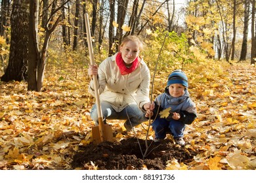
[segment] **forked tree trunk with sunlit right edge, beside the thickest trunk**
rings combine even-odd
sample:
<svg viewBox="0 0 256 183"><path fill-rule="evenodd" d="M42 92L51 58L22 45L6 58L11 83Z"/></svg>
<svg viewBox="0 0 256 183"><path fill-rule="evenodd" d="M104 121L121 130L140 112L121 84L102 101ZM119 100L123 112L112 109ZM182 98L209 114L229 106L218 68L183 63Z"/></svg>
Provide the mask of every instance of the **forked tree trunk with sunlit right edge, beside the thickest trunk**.
<svg viewBox="0 0 256 183"><path fill-rule="evenodd" d="M49 41L51 39L51 33L56 29L56 26L62 20L60 14L58 18L54 15L58 10L68 3L67 0L60 7L56 7L57 2L53 1L52 9L49 20L45 27L45 37L43 39L43 45L41 52L39 50L38 42L38 22L39 22L39 0L30 0L30 23L28 31L28 44L29 44L29 59L28 59L28 90L35 90L41 92L43 88L43 78L45 73L45 65L47 61L47 49ZM55 20L55 21L54 21Z"/></svg>

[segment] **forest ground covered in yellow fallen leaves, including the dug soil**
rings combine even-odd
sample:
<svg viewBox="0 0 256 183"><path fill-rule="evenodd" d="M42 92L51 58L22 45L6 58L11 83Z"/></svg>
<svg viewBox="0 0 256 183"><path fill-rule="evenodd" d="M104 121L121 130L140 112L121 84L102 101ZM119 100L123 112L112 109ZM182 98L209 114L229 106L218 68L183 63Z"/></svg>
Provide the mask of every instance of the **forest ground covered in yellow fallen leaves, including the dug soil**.
<svg viewBox="0 0 256 183"><path fill-rule="evenodd" d="M248 63L205 63L186 69L198 119L186 128L186 146L170 136L144 159L147 122L114 143L92 144L86 71L47 73L43 92L24 82L0 83L0 169L256 169L256 72ZM158 73L153 98L169 71ZM150 131L150 143L154 133ZM121 151L123 149L123 151ZM125 162L125 163L124 163Z"/></svg>

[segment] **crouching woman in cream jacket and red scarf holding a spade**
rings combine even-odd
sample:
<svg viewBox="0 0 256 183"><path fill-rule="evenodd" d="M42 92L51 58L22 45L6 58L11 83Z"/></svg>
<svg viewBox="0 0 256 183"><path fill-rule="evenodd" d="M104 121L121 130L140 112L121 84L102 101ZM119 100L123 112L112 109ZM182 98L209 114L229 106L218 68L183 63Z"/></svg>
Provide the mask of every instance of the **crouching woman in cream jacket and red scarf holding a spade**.
<svg viewBox="0 0 256 183"><path fill-rule="evenodd" d="M139 56L142 48L143 42L138 37L125 37L118 53L106 58L99 66L89 65L88 69L90 76L98 75L104 123L107 119L126 120L127 131L147 121L140 109L148 109L144 105L150 101L150 71ZM93 80L89 84L89 92L95 95ZM98 125L96 104L91 110L91 118Z"/></svg>

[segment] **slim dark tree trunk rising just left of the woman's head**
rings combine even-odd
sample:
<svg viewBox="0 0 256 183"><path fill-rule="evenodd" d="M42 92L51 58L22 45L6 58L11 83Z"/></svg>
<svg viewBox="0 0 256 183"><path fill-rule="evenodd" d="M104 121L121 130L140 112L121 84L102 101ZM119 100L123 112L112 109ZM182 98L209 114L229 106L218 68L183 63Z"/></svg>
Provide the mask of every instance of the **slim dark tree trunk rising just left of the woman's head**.
<svg viewBox="0 0 256 183"><path fill-rule="evenodd" d="M108 27L108 56L114 54L113 42L114 42L114 25L115 20L115 0L110 0L110 25Z"/></svg>

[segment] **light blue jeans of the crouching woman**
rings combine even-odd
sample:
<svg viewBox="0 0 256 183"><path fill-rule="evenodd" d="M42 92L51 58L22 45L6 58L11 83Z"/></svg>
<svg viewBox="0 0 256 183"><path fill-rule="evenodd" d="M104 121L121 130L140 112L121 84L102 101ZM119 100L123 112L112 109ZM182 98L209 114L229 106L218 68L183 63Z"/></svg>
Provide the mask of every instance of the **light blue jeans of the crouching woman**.
<svg viewBox="0 0 256 183"><path fill-rule="evenodd" d="M116 112L108 102L101 102L100 106L102 110L102 118L105 124L106 120L126 120L125 127L130 128L131 125L134 127L135 125L139 125L148 120L138 105L135 104L127 105L127 107L121 110L121 112ZM91 109L91 118L95 121L95 124L98 125L96 104L93 105L93 108Z"/></svg>

